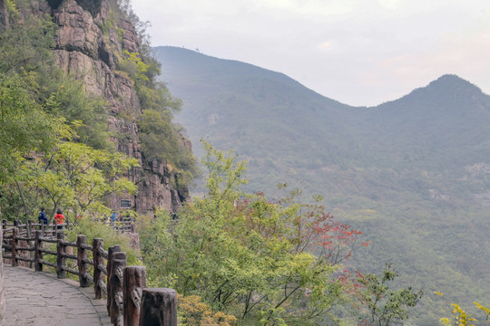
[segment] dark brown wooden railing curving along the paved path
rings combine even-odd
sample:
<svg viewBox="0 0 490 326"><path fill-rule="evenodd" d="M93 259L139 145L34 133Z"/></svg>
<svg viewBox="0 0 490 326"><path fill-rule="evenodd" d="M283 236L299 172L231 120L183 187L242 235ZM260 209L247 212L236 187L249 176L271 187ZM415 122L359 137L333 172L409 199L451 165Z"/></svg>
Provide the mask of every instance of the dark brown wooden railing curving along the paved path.
<svg viewBox="0 0 490 326"><path fill-rule="evenodd" d="M32 263L36 272L43 271L44 265L51 266L58 278L72 273L78 276L81 287L93 284L95 299L107 298L107 312L113 325L177 325L176 292L172 289L145 288L146 268L126 266L126 253L121 252L121 245L114 245L105 251L103 239L100 238L93 239L92 245L87 245L85 235L78 235L76 243L72 243L64 240L62 230L55 229L47 234L45 229L34 230L34 235L28 237L22 231L25 229L25 225L18 223L4 229L3 258L10 259L12 266L25 261ZM45 244L53 245L48 249L44 247ZM76 254L73 254L75 251ZM34 254L21 254L25 252ZM51 262L54 259L44 259L48 255L54 256L56 263ZM76 269L73 268L75 266Z"/></svg>

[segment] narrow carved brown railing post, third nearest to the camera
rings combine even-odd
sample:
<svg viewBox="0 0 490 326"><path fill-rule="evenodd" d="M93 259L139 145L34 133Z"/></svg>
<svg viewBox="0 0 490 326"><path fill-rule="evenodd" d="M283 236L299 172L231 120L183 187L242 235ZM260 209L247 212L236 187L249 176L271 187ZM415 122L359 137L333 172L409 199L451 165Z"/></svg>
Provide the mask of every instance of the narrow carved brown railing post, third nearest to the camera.
<svg viewBox="0 0 490 326"><path fill-rule="evenodd" d="M122 271L126 267L126 253L114 253L113 263L111 264L111 322L114 326L124 324L124 314L122 312Z"/></svg>

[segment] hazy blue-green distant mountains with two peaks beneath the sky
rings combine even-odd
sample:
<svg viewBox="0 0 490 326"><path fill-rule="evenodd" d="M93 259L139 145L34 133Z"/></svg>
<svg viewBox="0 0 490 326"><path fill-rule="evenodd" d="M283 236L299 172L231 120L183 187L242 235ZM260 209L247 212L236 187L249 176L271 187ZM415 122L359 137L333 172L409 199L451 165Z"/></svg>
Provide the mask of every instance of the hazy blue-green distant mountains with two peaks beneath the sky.
<svg viewBox="0 0 490 326"><path fill-rule="evenodd" d="M417 325L445 302L488 302L490 97L444 75L397 101L351 107L288 76L175 47L158 47L162 80L184 102L177 120L248 161L250 190L287 182L326 197L373 245L367 270L393 262L426 291ZM326 76L326 78L335 78Z"/></svg>

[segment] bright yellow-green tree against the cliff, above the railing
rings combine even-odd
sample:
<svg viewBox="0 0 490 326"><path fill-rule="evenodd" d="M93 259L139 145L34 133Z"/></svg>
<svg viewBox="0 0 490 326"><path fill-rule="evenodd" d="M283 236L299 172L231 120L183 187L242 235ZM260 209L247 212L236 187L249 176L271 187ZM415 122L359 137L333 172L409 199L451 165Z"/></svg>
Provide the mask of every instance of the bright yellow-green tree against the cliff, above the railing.
<svg viewBox="0 0 490 326"><path fill-rule="evenodd" d="M51 216L60 206L70 208L73 217L88 212L107 214L106 195L136 192L137 187L123 177L138 165L135 158L73 142L76 133L64 120L58 122L57 142L47 151L37 149L29 159L19 159L5 181L10 185L10 198L15 198L13 189L20 197L26 219L37 206L50 207Z"/></svg>

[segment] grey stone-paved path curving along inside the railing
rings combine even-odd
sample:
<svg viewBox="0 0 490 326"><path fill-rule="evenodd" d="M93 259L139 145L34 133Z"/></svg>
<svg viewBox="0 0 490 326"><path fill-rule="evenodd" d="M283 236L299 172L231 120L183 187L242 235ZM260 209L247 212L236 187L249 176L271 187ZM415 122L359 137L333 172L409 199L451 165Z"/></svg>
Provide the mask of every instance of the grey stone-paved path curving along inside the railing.
<svg viewBox="0 0 490 326"><path fill-rule="evenodd" d="M105 300L94 300L93 288L4 265L6 312L2 326L108 326Z"/></svg>

